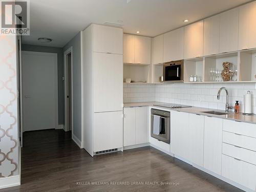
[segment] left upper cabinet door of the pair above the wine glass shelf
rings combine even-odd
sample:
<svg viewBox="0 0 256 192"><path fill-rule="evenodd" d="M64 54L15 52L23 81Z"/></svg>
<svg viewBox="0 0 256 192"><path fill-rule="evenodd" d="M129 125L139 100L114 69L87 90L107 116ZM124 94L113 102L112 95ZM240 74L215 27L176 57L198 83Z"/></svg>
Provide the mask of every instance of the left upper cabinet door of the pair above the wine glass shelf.
<svg viewBox="0 0 256 192"><path fill-rule="evenodd" d="M220 14L204 19L204 55L219 53Z"/></svg>

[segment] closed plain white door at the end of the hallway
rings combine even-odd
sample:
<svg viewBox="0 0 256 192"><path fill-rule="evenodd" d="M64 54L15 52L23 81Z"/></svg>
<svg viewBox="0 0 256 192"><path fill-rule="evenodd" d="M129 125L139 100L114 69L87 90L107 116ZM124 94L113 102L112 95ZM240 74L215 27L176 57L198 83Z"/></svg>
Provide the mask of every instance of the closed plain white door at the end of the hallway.
<svg viewBox="0 0 256 192"><path fill-rule="evenodd" d="M24 131L58 126L57 54L22 52Z"/></svg>

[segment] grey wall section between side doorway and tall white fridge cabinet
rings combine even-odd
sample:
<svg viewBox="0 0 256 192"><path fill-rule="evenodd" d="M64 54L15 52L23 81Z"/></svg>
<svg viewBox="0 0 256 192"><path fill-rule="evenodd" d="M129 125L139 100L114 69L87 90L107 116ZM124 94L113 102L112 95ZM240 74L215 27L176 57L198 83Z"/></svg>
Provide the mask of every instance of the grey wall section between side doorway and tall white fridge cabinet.
<svg viewBox="0 0 256 192"><path fill-rule="evenodd" d="M81 141L81 37L79 32L64 47L73 50L73 133Z"/></svg>

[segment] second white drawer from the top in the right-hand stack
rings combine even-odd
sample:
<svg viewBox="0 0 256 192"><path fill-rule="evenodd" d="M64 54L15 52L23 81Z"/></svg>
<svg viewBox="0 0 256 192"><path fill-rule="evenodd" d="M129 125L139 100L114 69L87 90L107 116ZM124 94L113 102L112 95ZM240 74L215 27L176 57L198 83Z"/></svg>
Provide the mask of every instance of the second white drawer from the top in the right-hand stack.
<svg viewBox="0 0 256 192"><path fill-rule="evenodd" d="M253 137L223 131L222 141L224 143L240 146L243 148L247 148L247 150L252 150L256 152L256 138Z"/></svg>

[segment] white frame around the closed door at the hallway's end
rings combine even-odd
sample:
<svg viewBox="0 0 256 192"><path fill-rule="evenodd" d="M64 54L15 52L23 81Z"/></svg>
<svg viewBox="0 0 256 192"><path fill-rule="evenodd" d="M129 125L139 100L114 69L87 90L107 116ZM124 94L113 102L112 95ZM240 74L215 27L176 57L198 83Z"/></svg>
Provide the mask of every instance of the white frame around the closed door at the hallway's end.
<svg viewBox="0 0 256 192"><path fill-rule="evenodd" d="M49 55L49 56L54 56L54 120L55 120L55 127L54 129L58 129L58 55L57 53L48 53L48 52L35 52L35 51L22 51L22 55L24 54L30 54L30 55ZM22 70L21 70L22 73ZM22 76L20 77L21 80L21 87L20 89L22 89ZM23 90L22 90L23 91ZM22 93L21 91L21 93ZM23 95L21 95L20 97L23 97ZM23 103L22 103L23 105ZM24 110L22 108L22 110ZM22 111L23 114L23 111ZM22 126L24 128L24 115L22 115ZM23 129L23 132L25 132L25 129Z"/></svg>

